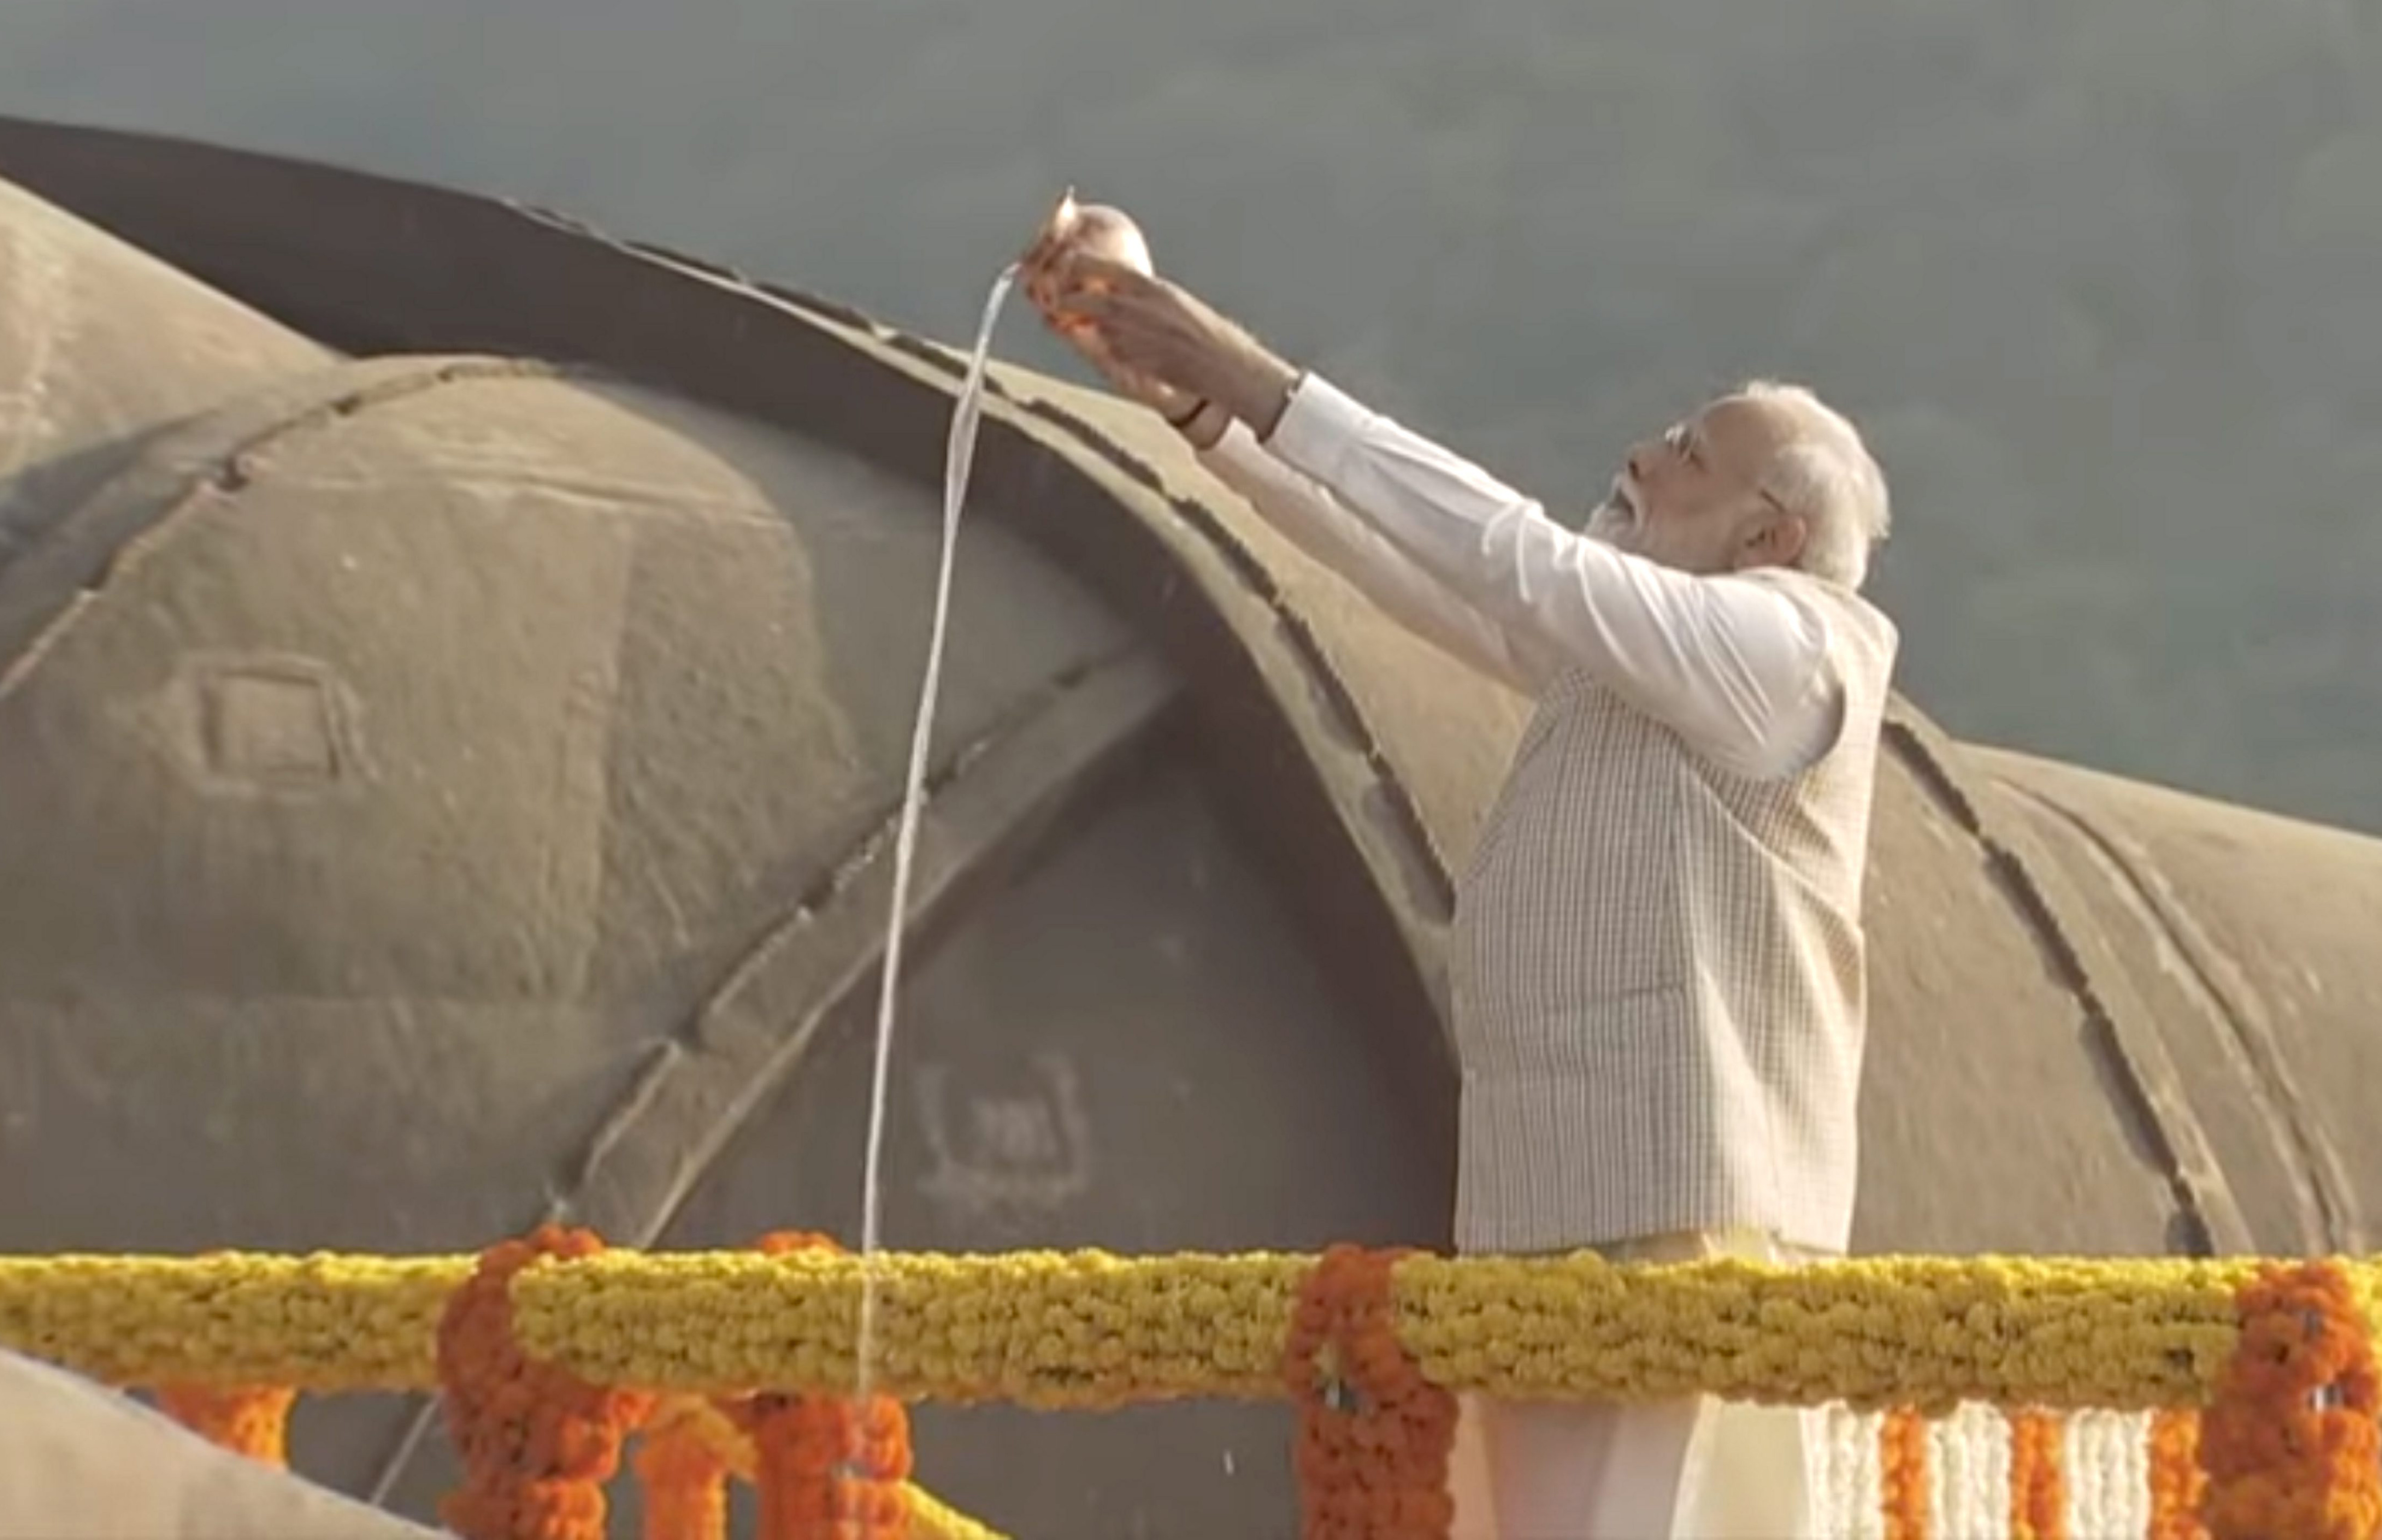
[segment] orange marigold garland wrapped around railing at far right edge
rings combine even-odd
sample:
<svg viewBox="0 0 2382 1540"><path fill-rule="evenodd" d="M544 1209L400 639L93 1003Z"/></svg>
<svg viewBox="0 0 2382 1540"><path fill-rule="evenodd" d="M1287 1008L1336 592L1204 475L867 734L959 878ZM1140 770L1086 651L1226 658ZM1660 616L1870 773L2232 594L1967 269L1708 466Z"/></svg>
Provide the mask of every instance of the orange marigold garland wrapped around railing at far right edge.
<svg viewBox="0 0 2382 1540"><path fill-rule="evenodd" d="M2241 1287L2239 1342L2201 1416L2210 1540L2382 1533L2375 1352L2349 1275L2265 1266Z"/></svg>

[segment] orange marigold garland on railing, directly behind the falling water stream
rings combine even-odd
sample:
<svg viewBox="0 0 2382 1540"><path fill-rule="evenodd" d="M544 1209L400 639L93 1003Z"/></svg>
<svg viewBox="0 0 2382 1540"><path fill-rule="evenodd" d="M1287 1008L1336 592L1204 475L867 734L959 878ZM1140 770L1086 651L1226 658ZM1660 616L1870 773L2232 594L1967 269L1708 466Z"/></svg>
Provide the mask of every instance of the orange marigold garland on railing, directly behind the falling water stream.
<svg viewBox="0 0 2382 1540"><path fill-rule="evenodd" d="M838 1249L781 1230L757 1252ZM760 1540L903 1540L910 1533L910 1414L893 1397L755 1395L734 1404L753 1440Z"/></svg>

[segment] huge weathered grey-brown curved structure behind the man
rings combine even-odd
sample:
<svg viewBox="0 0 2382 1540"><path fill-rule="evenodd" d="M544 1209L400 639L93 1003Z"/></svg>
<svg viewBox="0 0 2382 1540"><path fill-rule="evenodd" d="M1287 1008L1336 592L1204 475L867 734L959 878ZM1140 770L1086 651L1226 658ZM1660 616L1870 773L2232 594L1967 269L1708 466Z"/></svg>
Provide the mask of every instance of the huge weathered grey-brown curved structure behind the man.
<svg viewBox="0 0 2382 1540"><path fill-rule="evenodd" d="M0 1244L853 1235L953 353L326 167L0 181ZM1096 393L1003 370L972 510L891 1244L1441 1242L1524 706ZM1903 703L1875 844L1865 1249L2372 1244L2382 842ZM1279 1409L917 1421L1022 1535L1289 1511Z"/></svg>

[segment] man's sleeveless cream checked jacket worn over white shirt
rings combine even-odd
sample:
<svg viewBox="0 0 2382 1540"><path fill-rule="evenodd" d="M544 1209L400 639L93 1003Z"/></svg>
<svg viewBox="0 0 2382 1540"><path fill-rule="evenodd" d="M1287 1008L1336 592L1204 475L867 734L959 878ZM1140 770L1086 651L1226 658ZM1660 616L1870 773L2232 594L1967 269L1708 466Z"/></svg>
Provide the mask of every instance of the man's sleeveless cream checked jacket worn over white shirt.
<svg viewBox="0 0 2382 1540"><path fill-rule="evenodd" d="M1896 632L1789 570L1844 713L1748 780L1582 670L1541 696L1458 892L1455 1242L1570 1252L1760 1230L1844 1252L1867 975L1860 884Z"/></svg>

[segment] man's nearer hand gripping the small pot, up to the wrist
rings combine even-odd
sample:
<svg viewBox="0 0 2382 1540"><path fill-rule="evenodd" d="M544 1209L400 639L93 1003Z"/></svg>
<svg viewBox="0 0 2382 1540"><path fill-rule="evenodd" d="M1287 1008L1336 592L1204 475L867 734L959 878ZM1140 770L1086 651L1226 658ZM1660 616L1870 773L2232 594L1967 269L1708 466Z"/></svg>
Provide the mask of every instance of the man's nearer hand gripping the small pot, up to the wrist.
<svg viewBox="0 0 2382 1540"><path fill-rule="evenodd" d="M1210 400L1260 439L1274 431L1298 370L1179 284L1086 250L1050 257L1058 322L1089 322L1120 370Z"/></svg>

